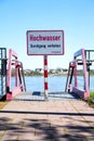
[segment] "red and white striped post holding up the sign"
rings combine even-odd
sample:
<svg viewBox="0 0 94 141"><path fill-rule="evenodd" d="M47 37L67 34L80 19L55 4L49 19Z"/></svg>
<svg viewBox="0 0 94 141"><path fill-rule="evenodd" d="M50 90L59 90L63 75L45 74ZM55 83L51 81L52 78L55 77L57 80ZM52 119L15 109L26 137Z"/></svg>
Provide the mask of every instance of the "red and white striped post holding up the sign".
<svg viewBox="0 0 94 141"><path fill-rule="evenodd" d="M44 97L48 99L48 55L44 55Z"/></svg>

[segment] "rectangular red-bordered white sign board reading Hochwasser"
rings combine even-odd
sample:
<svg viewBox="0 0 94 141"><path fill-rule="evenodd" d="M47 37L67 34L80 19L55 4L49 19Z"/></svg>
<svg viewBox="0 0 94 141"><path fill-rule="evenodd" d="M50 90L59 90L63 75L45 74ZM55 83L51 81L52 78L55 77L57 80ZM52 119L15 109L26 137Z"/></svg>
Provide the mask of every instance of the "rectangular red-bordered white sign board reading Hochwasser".
<svg viewBox="0 0 94 141"><path fill-rule="evenodd" d="M28 55L63 55L64 30L27 30Z"/></svg>

